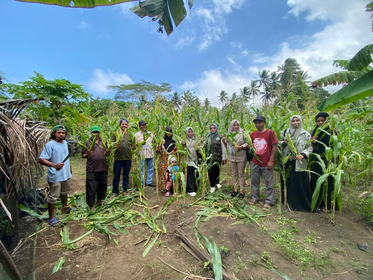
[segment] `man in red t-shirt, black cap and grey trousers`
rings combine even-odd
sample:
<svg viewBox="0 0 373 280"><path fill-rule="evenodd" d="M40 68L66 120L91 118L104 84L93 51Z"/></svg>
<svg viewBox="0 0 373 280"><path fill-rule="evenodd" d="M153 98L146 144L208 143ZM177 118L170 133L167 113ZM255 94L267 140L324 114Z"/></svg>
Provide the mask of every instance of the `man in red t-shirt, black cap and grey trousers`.
<svg viewBox="0 0 373 280"><path fill-rule="evenodd" d="M276 134L272 130L264 127L266 125L266 118L264 118L264 116L257 116L253 122L257 131L252 132L250 137L253 142L253 148L261 162L256 158L253 158L251 162L252 199L250 200L250 204L253 205L260 200L260 175L263 175L266 190L264 193L265 204L262 209L269 210L271 206L275 204L275 200L273 199L273 170L275 167L278 140Z"/></svg>

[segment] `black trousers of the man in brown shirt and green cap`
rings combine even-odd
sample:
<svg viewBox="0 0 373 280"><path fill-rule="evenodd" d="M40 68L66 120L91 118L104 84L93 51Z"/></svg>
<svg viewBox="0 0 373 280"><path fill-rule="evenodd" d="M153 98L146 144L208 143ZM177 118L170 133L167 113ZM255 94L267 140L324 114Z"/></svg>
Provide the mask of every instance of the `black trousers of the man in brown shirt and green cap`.
<svg viewBox="0 0 373 280"><path fill-rule="evenodd" d="M86 172L85 196L88 206L94 205L95 198L103 200L107 191L107 170Z"/></svg>

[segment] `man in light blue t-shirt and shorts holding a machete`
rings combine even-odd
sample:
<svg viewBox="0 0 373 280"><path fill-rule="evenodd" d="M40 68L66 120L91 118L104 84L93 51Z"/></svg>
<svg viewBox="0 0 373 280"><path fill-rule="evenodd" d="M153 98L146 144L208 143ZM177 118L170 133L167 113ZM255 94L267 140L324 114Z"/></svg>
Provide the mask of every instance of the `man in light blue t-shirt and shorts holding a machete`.
<svg viewBox="0 0 373 280"><path fill-rule="evenodd" d="M66 129L63 125L56 125L52 129L52 140L45 144L39 157L39 163L47 167L47 181L49 192L46 197L48 203L49 221L52 227L60 225L61 222L54 216L54 204L59 196L62 202L62 214L69 213L68 194L71 186L72 169L70 160L63 160L68 156L68 144L65 141Z"/></svg>

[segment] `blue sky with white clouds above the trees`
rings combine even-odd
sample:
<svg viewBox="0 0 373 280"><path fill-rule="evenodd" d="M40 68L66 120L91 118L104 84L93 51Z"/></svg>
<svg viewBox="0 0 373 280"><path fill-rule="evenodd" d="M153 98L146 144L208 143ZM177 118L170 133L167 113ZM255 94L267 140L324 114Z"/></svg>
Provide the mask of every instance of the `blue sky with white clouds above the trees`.
<svg viewBox="0 0 373 280"><path fill-rule="evenodd" d="M336 71L333 59L372 43L367 2L195 0L167 37L128 10L137 2L75 9L2 0L0 70L12 83L33 71L66 78L101 98L114 96L106 85L169 82L214 103L286 57L313 79Z"/></svg>

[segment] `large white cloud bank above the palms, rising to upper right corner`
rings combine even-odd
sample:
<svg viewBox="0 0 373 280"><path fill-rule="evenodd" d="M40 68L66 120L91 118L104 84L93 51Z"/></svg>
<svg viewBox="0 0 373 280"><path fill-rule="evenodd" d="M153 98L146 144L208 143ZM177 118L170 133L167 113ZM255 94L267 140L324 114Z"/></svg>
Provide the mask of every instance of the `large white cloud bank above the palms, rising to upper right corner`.
<svg viewBox="0 0 373 280"><path fill-rule="evenodd" d="M288 0L291 7L290 13L300 16L307 12L305 20L327 19L331 21L322 31L319 31L305 40L300 36L298 40L303 40L302 46L293 47L294 38L279 44L279 50L273 55L266 55L250 50L252 65L240 66L234 65L236 61L234 56L228 56L227 59L234 66L234 70L214 69L202 72L195 81L185 81L180 85L181 90L195 91L202 100L209 98L212 104L217 103L217 96L221 90L228 93L239 92L239 88L249 85L251 80L258 78L258 71L269 69L276 71L278 65L288 57L294 57L300 63L301 67L308 71L312 76L311 80L323 77L325 75L337 72L338 68L332 66L333 59L351 58L358 50L366 44L372 42L372 33L370 30L371 21L369 13L365 12L366 0L356 0L352 5L349 0L311 0L308 2L300 0ZM314 8L314 7L317 7ZM341 9L339 9L341 7ZM338 8L338 9L337 9ZM300 18L300 20L304 20ZM358 28L357 28L358 27ZM207 44L208 45L208 44ZM232 47L238 46L232 42ZM242 55L247 55L248 51L242 51ZM241 71L236 69L241 67ZM333 92L338 87L327 87L327 90Z"/></svg>

